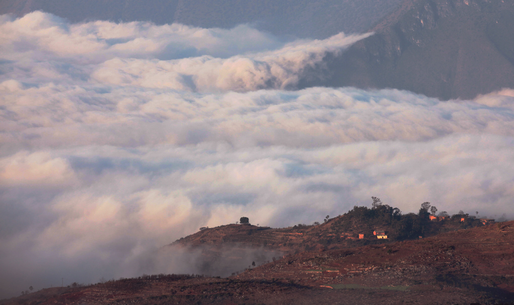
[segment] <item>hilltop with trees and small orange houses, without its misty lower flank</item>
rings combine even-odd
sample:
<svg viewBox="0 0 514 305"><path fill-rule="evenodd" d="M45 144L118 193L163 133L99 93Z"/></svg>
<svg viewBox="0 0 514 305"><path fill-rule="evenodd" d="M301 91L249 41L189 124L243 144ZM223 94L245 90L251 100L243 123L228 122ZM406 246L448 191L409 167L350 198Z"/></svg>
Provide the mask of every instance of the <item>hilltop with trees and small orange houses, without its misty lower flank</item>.
<svg viewBox="0 0 514 305"><path fill-rule="evenodd" d="M233 244L267 247L284 253L299 253L418 239L440 232L481 225L479 220L468 217L468 214L440 218L442 221L430 221L429 216L427 209L418 214L402 215L399 209L389 205L379 204L373 208L355 206L343 215L334 218L327 216L321 224L298 224L286 228L228 224L203 228L169 246L194 248ZM461 221L462 219L465 221ZM388 238L378 240L373 234L375 230L385 231Z"/></svg>

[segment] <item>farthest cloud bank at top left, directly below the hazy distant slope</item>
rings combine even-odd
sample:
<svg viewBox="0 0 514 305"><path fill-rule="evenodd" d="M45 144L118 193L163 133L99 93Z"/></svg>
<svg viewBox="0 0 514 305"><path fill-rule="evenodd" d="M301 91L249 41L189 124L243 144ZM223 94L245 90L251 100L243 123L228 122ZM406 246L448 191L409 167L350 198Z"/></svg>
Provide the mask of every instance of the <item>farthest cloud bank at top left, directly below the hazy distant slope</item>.
<svg viewBox="0 0 514 305"><path fill-rule="evenodd" d="M2 16L0 33L0 50L5 59L75 63L99 63L114 57L225 58L283 45L276 37L247 25L227 30L181 24L156 26L148 22L67 24L60 17L39 11L20 19Z"/></svg>

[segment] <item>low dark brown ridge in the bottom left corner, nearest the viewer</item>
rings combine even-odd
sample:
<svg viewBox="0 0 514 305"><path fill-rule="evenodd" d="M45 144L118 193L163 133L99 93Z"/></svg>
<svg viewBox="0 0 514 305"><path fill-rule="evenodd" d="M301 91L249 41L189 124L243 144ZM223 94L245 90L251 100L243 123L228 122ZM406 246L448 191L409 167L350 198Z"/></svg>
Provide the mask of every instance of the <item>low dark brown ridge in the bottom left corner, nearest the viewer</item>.
<svg viewBox="0 0 514 305"><path fill-rule="evenodd" d="M3 304L286 304L312 289L294 284L189 276L123 279L80 288L45 289ZM321 293L321 292L315 292ZM302 302L300 302L302 303ZM306 303L306 302L304 302Z"/></svg>

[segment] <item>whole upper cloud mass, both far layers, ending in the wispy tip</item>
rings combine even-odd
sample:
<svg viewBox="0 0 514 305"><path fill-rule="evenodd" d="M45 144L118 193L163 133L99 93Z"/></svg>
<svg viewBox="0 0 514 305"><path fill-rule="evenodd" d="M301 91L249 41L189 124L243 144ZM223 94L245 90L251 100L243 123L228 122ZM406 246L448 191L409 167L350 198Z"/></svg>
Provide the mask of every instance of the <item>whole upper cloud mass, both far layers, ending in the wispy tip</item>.
<svg viewBox="0 0 514 305"><path fill-rule="evenodd" d="M3 59L16 61L2 70L27 81L71 78L188 91L293 88L303 70L321 64L327 52L370 35L281 42L246 25L230 30L144 22L70 25L42 12L16 20L3 16L0 33Z"/></svg>

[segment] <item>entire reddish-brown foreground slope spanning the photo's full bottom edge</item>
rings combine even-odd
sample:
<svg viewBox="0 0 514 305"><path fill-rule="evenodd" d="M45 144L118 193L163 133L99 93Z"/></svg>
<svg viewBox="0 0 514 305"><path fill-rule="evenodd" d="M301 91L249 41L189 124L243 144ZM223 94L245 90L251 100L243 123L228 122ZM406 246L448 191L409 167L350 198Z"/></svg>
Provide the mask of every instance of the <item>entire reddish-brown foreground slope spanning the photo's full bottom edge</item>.
<svg viewBox="0 0 514 305"><path fill-rule="evenodd" d="M511 221L422 240L289 255L229 278L142 276L44 289L1 303L512 304L513 242Z"/></svg>

